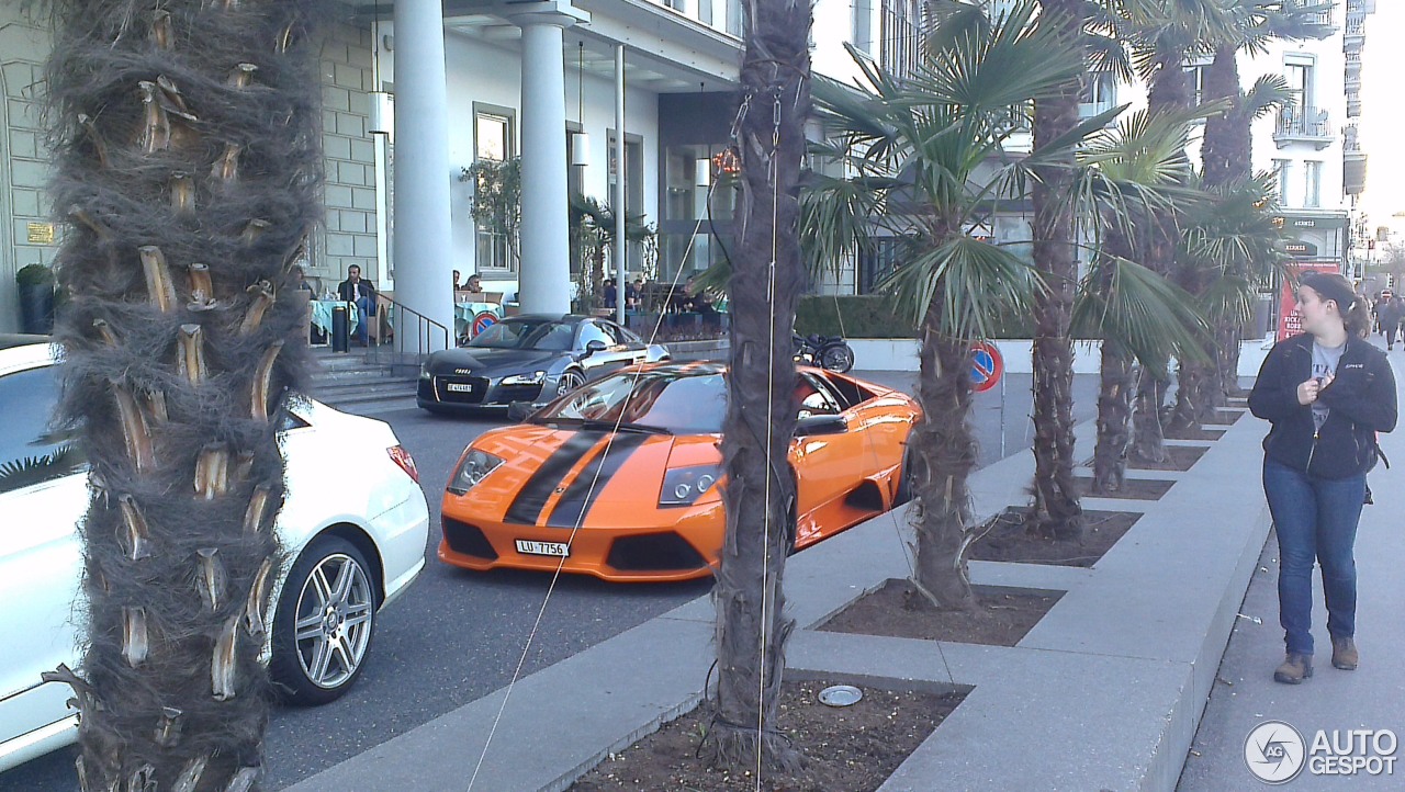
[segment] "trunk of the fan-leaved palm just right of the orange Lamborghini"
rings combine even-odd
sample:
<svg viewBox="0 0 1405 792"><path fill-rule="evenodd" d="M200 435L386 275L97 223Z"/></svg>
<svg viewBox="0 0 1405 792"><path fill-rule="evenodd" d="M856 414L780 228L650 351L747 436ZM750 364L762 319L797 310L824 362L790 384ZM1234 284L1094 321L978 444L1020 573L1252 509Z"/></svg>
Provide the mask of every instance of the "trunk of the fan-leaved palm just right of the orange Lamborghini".
<svg viewBox="0 0 1405 792"><path fill-rule="evenodd" d="M939 331L941 298L933 298L923 322L917 400L923 418L912 430L913 528L916 529L917 588L937 607L975 605L965 548L971 541L971 490L975 435L971 433L971 361L968 343Z"/></svg>

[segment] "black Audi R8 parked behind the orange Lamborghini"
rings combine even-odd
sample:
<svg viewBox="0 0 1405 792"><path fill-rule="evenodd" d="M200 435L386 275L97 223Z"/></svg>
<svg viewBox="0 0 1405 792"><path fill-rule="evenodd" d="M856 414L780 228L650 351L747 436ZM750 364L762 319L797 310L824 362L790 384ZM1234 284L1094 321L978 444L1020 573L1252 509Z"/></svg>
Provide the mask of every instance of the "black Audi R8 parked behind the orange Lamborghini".
<svg viewBox="0 0 1405 792"><path fill-rule="evenodd" d="M416 402L431 413L545 402L586 379L669 351L594 316L528 313L507 317L466 347L430 355L420 369Z"/></svg>

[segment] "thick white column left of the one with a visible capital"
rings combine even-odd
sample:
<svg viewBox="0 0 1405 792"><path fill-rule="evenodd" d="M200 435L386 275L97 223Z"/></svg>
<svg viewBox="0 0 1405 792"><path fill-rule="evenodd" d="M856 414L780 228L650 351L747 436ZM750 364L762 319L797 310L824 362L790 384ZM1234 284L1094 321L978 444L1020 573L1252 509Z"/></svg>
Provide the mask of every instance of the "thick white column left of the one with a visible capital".
<svg viewBox="0 0 1405 792"><path fill-rule="evenodd" d="M440 3L395 4L395 301L454 334L450 226L448 88ZM558 58L559 58L558 52ZM416 348L419 320L396 316L400 343ZM444 344L429 333L431 348Z"/></svg>

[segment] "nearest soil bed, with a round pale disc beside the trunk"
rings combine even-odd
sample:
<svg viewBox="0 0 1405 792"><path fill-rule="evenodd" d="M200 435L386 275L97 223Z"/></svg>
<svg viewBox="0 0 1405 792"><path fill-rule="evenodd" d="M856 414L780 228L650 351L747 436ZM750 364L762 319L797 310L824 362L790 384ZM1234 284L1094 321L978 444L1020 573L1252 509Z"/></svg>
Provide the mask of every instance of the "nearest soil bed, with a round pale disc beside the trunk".
<svg viewBox="0 0 1405 792"><path fill-rule="evenodd" d="M698 758L710 729L707 706L665 723L628 748L611 754L569 786L570 792L871 792L898 770L933 729L965 698L964 692L858 687L864 698L851 706L819 704L819 691L844 680L781 684L777 727L805 754L792 774L756 768L714 770Z"/></svg>

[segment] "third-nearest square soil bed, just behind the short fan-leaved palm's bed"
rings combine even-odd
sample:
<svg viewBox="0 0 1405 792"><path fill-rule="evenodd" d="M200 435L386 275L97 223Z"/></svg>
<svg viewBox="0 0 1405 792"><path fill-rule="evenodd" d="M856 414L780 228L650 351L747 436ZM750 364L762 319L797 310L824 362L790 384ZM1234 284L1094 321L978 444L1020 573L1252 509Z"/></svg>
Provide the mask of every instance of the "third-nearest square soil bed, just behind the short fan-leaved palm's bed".
<svg viewBox="0 0 1405 792"><path fill-rule="evenodd" d="M1066 539L1045 539L1028 532L1031 510L1010 507L985 525L984 534L971 546L972 560L999 560L1017 563L1048 563L1057 566L1089 567L1113 549L1123 535L1141 518L1134 511L1085 511L1087 524L1082 542Z"/></svg>

